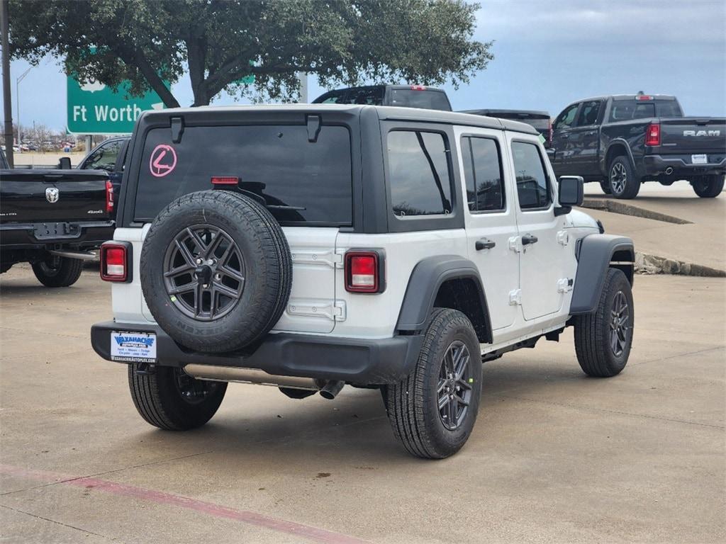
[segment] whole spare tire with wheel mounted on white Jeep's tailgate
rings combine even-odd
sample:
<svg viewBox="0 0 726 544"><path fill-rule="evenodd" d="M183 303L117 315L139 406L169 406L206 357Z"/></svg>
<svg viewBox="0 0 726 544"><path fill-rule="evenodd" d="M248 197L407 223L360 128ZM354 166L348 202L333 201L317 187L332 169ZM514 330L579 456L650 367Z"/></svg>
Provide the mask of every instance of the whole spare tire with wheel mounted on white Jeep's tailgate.
<svg viewBox="0 0 726 544"><path fill-rule="evenodd" d="M229 191L200 191L155 218L141 284L159 326L192 350L221 353L260 339L282 316L293 270L266 208Z"/></svg>

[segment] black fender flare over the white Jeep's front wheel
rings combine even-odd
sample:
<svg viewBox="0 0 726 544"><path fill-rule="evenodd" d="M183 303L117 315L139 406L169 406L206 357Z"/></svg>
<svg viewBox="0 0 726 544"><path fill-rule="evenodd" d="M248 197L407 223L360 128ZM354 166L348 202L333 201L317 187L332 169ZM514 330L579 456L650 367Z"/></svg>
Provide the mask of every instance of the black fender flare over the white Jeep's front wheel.
<svg viewBox="0 0 726 544"><path fill-rule="evenodd" d="M603 292L605 274L616 253L616 261L619 263L626 263L627 266L627 263L635 262L633 241L625 236L589 234L579 239L578 244L577 273L570 302L571 316L595 310ZM632 284L632 273L628 279Z"/></svg>

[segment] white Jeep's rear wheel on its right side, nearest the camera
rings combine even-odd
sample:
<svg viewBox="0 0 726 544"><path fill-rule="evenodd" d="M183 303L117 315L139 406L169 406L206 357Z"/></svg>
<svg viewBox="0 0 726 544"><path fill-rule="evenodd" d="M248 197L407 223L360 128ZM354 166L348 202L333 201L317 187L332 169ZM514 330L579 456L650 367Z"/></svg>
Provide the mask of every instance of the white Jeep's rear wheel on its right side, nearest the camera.
<svg viewBox="0 0 726 544"><path fill-rule="evenodd" d="M468 440L481 397L480 353L463 313L433 311L414 370L382 390L393 434L409 453L441 459Z"/></svg>

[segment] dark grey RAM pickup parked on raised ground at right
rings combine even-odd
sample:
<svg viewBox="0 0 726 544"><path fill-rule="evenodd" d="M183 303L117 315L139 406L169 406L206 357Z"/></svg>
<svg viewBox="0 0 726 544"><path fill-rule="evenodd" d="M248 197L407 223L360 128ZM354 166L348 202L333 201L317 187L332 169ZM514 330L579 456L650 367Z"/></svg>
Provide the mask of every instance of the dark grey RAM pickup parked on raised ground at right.
<svg viewBox="0 0 726 544"><path fill-rule="evenodd" d="M688 180L699 197L716 197L726 174L726 119L684 117L675 96L619 94L579 100L552 125L557 176L599 181L613 197L640 184Z"/></svg>

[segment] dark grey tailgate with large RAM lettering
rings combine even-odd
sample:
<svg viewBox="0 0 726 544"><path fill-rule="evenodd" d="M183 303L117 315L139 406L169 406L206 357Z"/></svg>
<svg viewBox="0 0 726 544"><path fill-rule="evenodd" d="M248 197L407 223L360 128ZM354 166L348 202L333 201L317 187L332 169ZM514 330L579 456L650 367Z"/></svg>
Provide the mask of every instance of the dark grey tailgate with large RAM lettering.
<svg viewBox="0 0 726 544"><path fill-rule="evenodd" d="M726 119L661 119L661 151L665 153L726 152Z"/></svg>

